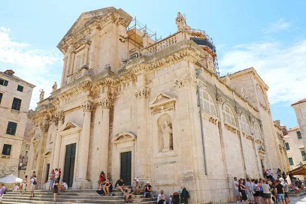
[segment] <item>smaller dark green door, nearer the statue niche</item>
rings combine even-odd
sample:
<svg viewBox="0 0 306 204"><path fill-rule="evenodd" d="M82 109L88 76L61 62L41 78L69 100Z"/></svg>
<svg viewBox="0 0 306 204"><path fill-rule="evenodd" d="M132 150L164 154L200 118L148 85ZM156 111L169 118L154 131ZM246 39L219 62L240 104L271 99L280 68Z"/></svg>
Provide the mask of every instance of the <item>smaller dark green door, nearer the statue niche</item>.
<svg viewBox="0 0 306 204"><path fill-rule="evenodd" d="M125 186L131 186L132 181L132 151L122 152L120 157L120 179Z"/></svg>

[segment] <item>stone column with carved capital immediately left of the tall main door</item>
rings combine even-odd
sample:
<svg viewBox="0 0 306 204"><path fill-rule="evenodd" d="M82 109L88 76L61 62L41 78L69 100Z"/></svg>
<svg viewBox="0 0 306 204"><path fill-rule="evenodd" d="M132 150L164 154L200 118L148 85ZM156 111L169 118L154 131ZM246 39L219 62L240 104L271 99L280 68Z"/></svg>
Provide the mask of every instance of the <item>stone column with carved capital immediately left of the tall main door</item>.
<svg viewBox="0 0 306 204"><path fill-rule="evenodd" d="M65 115L63 111L56 114L56 123L58 124L58 130L64 123ZM53 142L54 148L52 148L52 155L54 155L53 163L50 164L50 167L52 169L59 168L59 161L60 161L60 151L61 151L61 145L62 145L62 136L60 136L59 132L57 132L56 140ZM51 155L51 157L52 157Z"/></svg>

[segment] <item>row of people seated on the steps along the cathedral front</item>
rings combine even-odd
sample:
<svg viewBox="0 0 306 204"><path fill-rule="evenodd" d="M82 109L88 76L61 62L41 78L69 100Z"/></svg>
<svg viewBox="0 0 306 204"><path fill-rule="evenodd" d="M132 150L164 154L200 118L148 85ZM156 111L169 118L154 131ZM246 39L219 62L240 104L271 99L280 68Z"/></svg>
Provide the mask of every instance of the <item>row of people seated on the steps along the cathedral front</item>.
<svg viewBox="0 0 306 204"><path fill-rule="evenodd" d="M112 182L109 179L106 179L106 175L103 171L99 174L99 190L96 190L96 193L99 194L99 196L112 196L113 194L113 185ZM123 200L124 203L130 203L135 198L135 195L142 195L142 198L152 198L155 199L154 194L152 192L152 186L149 182L146 182L145 185L140 184L137 177L134 179L132 186L125 186L124 180L119 179L115 183L115 188L123 193ZM177 192L174 192L169 196L167 199L164 195L164 191L161 190L159 195L157 196L157 203L158 204L177 204L177 203L186 203L188 204L188 197L189 193L186 190L185 186L181 186L182 192L180 197L177 197L175 195Z"/></svg>

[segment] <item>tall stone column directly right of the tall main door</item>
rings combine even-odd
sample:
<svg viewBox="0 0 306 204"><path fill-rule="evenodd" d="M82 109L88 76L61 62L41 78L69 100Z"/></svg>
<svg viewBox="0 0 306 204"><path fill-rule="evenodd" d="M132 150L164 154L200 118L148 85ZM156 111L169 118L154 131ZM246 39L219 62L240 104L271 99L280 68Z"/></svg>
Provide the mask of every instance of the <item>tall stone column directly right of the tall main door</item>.
<svg viewBox="0 0 306 204"><path fill-rule="evenodd" d="M80 154L78 163L78 179L77 189L88 189L91 187L91 183L87 181L87 166L88 166L88 152L89 152L89 139L90 139L90 122L91 111L93 109L93 103L91 101L85 101L81 107L84 111L83 129L80 138Z"/></svg>

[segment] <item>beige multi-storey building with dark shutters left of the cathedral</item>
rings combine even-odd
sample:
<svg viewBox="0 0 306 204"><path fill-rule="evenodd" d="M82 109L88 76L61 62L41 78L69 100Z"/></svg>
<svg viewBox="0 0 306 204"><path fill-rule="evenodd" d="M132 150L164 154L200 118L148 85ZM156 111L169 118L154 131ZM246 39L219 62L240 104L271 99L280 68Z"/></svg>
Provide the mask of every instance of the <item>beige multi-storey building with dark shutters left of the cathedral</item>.
<svg viewBox="0 0 306 204"><path fill-rule="evenodd" d="M13 70L0 72L0 177L18 175L33 84L25 82Z"/></svg>

